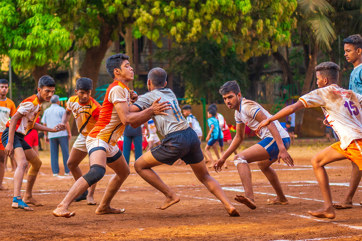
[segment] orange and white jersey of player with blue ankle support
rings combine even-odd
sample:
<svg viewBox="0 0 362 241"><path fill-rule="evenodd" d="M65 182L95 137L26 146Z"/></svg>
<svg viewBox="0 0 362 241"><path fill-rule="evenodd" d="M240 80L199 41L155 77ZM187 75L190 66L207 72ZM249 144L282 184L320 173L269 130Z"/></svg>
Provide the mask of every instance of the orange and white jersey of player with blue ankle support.
<svg viewBox="0 0 362 241"><path fill-rule="evenodd" d="M23 100L16 108L23 117L16 123L15 131L26 135L33 129L35 121L38 119L42 104L39 102L37 95L32 95ZM6 127L10 126L10 121L6 123Z"/></svg>

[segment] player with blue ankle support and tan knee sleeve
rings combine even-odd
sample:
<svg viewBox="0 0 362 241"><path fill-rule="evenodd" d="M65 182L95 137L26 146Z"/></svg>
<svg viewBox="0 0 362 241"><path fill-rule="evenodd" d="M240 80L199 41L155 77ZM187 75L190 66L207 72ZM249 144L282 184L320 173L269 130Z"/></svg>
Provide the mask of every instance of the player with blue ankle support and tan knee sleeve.
<svg viewBox="0 0 362 241"><path fill-rule="evenodd" d="M41 104L49 102L55 91L55 81L50 76L43 76L39 79L38 94L32 95L23 100L16 108L15 114L12 116L6 124L1 141L5 146L5 153L12 157L17 163L16 170L14 172L14 198L11 205L12 208L21 208L26 211L33 211L33 208L27 204L33 204L35 206L42 206L41 203L33 198L32 190L35 179L37 178L39 169L42 165L39 156L24 141L24 136L35 130L46 132L59 132L61 128L60 124L49 128L41 124L35 123L38 119L39 113L42 109ZM22 178L28 162L31 164L28 171L28 181L26 182L26 189L24 193L24 200L20 197L20 190L22 184Z"/></svg>

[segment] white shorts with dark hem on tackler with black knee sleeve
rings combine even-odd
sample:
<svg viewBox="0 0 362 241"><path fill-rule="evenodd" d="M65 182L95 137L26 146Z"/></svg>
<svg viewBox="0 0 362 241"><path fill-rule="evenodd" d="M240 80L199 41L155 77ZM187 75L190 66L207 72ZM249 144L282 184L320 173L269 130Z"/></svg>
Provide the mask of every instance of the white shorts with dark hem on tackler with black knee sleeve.
<svg viewBox="0 0 362 241"><path fill-rule="evenodd" d="M119 150L118 146L112 146L109 143L103 141L102 139L87 136L85 141L87 146L88 155L92 154L94 151L103 150L107 154L107 163L114 162L122 156L122 151Z"/></svg>

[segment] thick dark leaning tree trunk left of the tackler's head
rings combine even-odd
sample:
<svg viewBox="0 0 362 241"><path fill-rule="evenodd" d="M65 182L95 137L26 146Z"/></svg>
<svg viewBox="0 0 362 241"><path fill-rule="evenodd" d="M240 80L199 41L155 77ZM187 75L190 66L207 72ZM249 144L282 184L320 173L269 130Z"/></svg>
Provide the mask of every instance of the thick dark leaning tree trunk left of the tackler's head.
<svg viewBox="0 0 362 241"><path fill-rule="evenodd" d="M102 60L112 44L111 28L108 25L101 27L102 32L99 35L100 44L97 47L88 48L85 52L84 61L79 69L80 77L87 77L93 80L93 90L97 88L99 70ZM92 91L92 96L96 91Z"/></svg>

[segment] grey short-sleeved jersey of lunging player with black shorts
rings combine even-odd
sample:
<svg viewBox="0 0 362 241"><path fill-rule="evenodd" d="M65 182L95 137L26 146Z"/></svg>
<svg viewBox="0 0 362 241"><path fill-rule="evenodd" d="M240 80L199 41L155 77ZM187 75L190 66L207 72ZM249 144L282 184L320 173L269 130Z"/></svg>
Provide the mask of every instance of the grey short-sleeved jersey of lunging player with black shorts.
<svg viewBox="0 0 362 241"><path fill-rule="evenodd" d="M152 106L153 102L160 98L159 103L168 101L171 104L171 109L165 111L167 115L152 115L151 118L155 122L155 126L161 135L166 136L172 132L179 130L185 130L189 127L186 118L182 115L181 109L178 106L178 101L175 94L171 89L162 88L155 89L147 92L144 95L138 97L138 100L134 103L141 111Z"/></svg>

